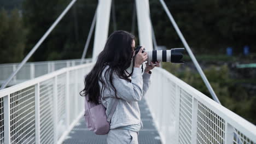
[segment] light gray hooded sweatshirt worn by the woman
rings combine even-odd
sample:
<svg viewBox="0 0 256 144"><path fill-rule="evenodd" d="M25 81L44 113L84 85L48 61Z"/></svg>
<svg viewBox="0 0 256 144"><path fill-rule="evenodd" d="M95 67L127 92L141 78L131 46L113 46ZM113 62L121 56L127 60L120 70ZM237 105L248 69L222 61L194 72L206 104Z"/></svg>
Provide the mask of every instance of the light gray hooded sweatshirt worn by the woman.
<svg viewBox="0 0 256 144"><path fill-rule="evenodd" d="M102 78L109 83L109 74L106 74L106 69L103 70ZM104 75L108 80L104 79ZM99 82L100 87L102 83ZM150 85L150 74L141 72L141 68L134 68L131 76L131 82L120 79L117 74L113 73L113 85L117 89L118 105L112 116L110 129L124 127L127 125L143 124L141 121L141 113L139 111L138 101L142 99L144 94L148 91ZM111 106L114 104L115 92L110 86L106 86L102 92L104 100L101 98L102 104L106 107L107 116L110 113Z"/></svg>

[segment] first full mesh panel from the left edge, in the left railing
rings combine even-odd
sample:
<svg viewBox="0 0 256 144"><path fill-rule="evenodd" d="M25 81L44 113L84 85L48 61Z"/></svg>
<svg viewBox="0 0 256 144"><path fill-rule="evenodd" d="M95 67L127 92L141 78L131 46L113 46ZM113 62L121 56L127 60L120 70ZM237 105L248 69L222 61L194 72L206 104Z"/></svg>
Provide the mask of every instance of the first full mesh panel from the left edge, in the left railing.
<svg viewBox="0 0 256 144"><path fill-rule="evenodd" d="M35 142L34 86L10 94L11 143Z"/></svg>

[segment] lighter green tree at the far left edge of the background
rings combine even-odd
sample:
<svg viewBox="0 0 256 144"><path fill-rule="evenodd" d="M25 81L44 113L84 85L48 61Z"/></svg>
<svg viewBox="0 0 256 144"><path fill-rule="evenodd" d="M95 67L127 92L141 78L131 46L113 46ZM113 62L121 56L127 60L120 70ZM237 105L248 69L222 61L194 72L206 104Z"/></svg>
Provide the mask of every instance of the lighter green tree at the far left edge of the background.
<svg viewBox="0 0 256 144"><path fill-rule="evenodd" d="M26 30L19 10L14 9L8 15L0 11L0 63L20 62L24 57Z"/></svg>

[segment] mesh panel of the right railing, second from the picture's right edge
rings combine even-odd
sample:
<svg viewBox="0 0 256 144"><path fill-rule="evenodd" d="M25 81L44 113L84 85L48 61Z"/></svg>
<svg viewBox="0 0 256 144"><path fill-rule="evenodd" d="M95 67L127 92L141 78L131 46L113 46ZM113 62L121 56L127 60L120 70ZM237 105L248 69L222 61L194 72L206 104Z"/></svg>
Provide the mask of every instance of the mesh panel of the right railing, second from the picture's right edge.
<svg viewBox="0 0 256 144"><path fill-rule="evenodd" d="M197 143L224 143L225 121L198 102Z"/></svg>

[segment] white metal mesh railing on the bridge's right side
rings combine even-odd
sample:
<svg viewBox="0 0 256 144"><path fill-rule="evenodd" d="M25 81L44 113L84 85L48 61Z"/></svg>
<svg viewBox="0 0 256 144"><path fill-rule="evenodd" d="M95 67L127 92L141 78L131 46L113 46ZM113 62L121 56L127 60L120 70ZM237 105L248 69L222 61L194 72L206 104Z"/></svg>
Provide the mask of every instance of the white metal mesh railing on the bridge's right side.
<svg viewBox="0 0 256 144"><path fill-rule="evenodd" d="M156 68L146 100L163 143L256 143L256 126Z"/></svg>

